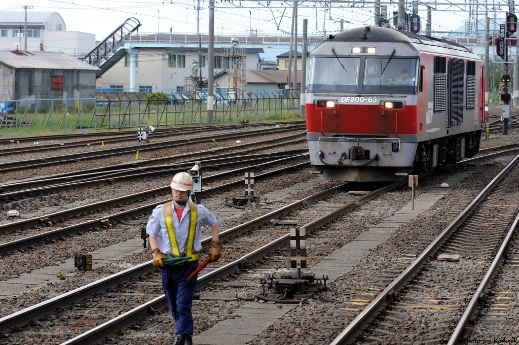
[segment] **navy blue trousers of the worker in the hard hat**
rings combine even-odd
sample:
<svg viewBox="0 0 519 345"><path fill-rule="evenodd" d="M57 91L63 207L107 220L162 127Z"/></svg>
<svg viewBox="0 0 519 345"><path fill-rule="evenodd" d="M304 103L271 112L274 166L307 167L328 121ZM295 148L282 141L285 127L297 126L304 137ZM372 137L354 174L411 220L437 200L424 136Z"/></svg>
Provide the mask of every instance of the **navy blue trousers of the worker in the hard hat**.
<svg viewBox="0 0 519 345"><path fill-rule="evenodd" d="M193 334L191 308L198 275L195 275L189 282L186 282L186 279L197 267L198 262L189 262L187 265L162 269L162 287L173 319L175 319L175 334Z"/></svg>

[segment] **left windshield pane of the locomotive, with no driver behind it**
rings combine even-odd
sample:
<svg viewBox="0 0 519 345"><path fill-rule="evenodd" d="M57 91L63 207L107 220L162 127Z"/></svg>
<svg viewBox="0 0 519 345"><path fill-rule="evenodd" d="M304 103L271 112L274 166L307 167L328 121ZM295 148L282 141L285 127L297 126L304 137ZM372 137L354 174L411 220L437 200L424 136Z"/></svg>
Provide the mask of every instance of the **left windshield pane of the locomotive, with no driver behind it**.
<svg viewBox="0 0 519 345"><path fill-rule="evenodd" d="M356 91L359 58L313 57L310 59L309 91Z"/></svg>

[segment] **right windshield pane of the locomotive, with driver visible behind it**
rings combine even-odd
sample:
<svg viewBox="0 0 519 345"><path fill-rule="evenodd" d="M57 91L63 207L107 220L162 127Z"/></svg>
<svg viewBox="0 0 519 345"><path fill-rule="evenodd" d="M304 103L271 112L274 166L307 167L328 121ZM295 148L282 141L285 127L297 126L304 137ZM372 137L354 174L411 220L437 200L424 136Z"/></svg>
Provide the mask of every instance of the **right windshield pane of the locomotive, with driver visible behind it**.
<svg viewBox="0 0 519 345"><path fill-rule="evenodd" d="M417 87L418 60L366 58L363 91L414 92Z"/></svg>

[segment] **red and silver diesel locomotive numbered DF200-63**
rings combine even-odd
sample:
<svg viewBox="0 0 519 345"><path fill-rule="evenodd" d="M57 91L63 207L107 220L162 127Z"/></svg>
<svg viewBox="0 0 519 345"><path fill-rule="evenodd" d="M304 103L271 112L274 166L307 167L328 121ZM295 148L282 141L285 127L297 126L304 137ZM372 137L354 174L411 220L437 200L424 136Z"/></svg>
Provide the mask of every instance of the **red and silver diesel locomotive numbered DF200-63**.
<svg viewBox="0 0 519 345"><path fill-rule="evenodd" d="M485 122L482 60L442 39L365 27L310 53L312 166L325 179L393 181L472 157Z"/></svg>

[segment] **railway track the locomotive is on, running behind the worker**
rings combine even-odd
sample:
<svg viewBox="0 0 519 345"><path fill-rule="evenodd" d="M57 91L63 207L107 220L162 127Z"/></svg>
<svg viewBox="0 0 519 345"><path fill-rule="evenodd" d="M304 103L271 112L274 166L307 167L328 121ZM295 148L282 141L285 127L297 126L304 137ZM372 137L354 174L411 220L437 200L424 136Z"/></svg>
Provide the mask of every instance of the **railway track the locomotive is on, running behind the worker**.
<svg viewBox="0 0 519 345"><path fill-rule="evenodd" d="M397 184L394 184L392 188L395 188L396 185ZM387 190L380 189L374 193L371 193L368 196L362 196L361 198L359 198L358 196L349 195L348 191L344 192L343 190L345 189L345 187L345 185L339 185L335 188L320 191L302 200L293 202L282 208L271 211L266 215L252 219L250 221L238 225L237 227L221 232L220 238L222 241L224 241L226 248L228 248L228 253L230 254L227 255L225 259L221 262L219 261L212 265L213 267L209 268L210 273L202 275L199 278L198 286L202 287L214 280L220 280L235 271L241 270L245 264L252 264L257 260L263 258L264 256L268 255L269 253L272 253L278 250L280 247L283 247L286 244L288 244L290 236L286 234L286 230L284 228L276 227L275 225L270 227L267 226L266 228L263 227L263 225L266 223L268 224L269 221L296 212L299 214L299 216L295 216L292 214L292 219L298 217L300 222L305 222L310 219L312 220L307 225L305 225L307 227L307 230L310 232L311 230L318 228L320 225L329 222L330 220L344 214L349 209L352 209L354 207L354 203L360 202L361 200L368 200L368 198L375 197L379 193ZM321 200L322 198L327 199L325 206L321 206L317 210L315 209L315 205L310 206L313 202ZM310 209L312 209L312 213L309 214L308 210ZM318 214L325 214L325 216L318 217ZM210 245L210 241L211 238L206 238L202 241L202 246L204 248L208 248ZM249 245L244 246L244 243L249 243ZM250 249L251 244L255 247L252 251ZM244 255L241 256L240 253L243 252ZM216 265L220 267L214 267ZM134 280L132 283L128 283L128 281L132 277L145 274L151 270L153 270L153 266L151 265L151 261L148 261L124 272L120 272L113 276L104 278L99 282L89 284L85 287L76 289L74 291L71 291L70 293L64 294L57 298L52 298L51 300L39 303L38 305L33 306L31 308L21 310L12 315L5 316L2 319L0 319L0 329L6 330L10 327L17 325L18 328L13 330L18 334L17 336L25 337L26 335L24 334L30 334L34 336L34 331L30 329L21 330L19 326L27 322L28 320L33 319L37 315L42 315L46 313L48 314L59 309L59 313L63 316L50 317L50 319L48 320L45 320L44 318L44 321L33 322L29 325L29 328L45 327L45 321L49 320L52 321L50 323L52 327L56 328L58 319L63 318L64 325L57 327L58 333L60 333L59 330L61 329L68 329L69 331L66 333L70 336L71 330L77 331L77 328L75 327L84 328L86 327L86 325L89 325L91 323L99 324L99 320L97 318L92 317L89 317L87 319L81 317L78 318L77 314L71 315L69 314L69 312L74 313L75 310L78 309L78 312L83 315L99 315L102 312L100 312L97 309L100 308L100 305L102 306L101 309L103 309L104 306L106 306L107 304L107 302L103 301L111 301L110 303L108 303L108 306L110 308L114 306L125 306L124 308L128 308L128 304L130 304L130 307L132 306L132 304L129 303L129 297L138 296L138 300L143 298L143 296L151 298L151 300L146 301L146 303L142 304L139 307L135 307L132 310L126 310L118 317L116 316L119 313L121 313L121 310L119 308L116 310L112 310L111 314L115 313L115 316L113 317L115 317L115 319L118 320L106 321L105 323L102 323L99 326L95 327L95 329L88 331L85 335L78 336L78 338L70 340L68 343L92 342L92 337L95 336L99 338L106 334L111 334L114 332L115 329L120 328L121 325L132 323L135 320L135 316L137 315L143 315L148 313L149 310L159 310L165 307L167 303L165 297L155 296L157 294L157 291L160 291L160 282L156 272L155 274L152 273L146 275L144 278L140 278L140 280ZM114 291L113 289L107 290L107 292L105 292L104 294L100 293L100 291L103 288L120 284L121 281L125 282L124 285L120 287L126 291L125 293L121 293L121 291L118 290ZM140 284L141 282L143 282L143 284ZM143 293L143 291L149 289L150 287L154 288L152 293ZM88 298L83 302L78 302L83 300L85 296L91 295L94 292L97 292L97 294L93 299ZM124 303L122 303L122 301L118 298L124 299ZM68 304L71 302L73 302L73 304L71 305L72 308L69 308ZM96 310L88 310L89 308L94 308ZM139 311L137 311L137 309ZM65 310L67 311L66 313L64 313ZM49 316L47 316L47 318L48 317ZM69 320L80 321L77 322L75 325L72 325L72 327L67 327L67 322ZM39 332L42 333L42 330L39 330ZM44 332L50 333L51 330L47 329Z"/></svg>

